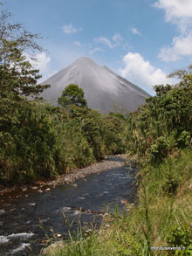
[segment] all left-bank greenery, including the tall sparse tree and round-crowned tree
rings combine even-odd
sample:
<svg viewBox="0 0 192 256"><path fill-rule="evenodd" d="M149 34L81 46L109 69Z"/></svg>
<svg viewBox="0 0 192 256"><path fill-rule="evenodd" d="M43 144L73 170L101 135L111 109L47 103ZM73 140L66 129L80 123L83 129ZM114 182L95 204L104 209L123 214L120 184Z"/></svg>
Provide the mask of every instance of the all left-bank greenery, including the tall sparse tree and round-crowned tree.
<svg viewBox="0 0 192 256"><path fill-rule="evenodd" d="M41 51L37 35L0 17L0 183L33 182L126 151L126 122L87 108L84 92L66 86L52 107L38 98L49 85L24 52ZM27 98L31 96L31 99Z"/></svg>

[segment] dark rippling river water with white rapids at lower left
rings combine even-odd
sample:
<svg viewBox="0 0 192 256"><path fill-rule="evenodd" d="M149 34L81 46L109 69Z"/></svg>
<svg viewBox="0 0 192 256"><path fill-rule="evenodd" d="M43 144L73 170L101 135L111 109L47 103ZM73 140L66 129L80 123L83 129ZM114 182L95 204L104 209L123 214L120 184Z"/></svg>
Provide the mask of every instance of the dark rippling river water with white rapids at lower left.
<svg viewBox="0 0 192 256"><path fill-rule="evenodd" d="M119 157L110 160L124 161ZM136 171L125 165L43 192L31 189L6 194L0 200L0 255L38 255L46 235L66 238L66 219L73 226L80 218L83 225L99 228L106 208L112 212L118 204L122 213L124 200L134 203Z"/></svg>

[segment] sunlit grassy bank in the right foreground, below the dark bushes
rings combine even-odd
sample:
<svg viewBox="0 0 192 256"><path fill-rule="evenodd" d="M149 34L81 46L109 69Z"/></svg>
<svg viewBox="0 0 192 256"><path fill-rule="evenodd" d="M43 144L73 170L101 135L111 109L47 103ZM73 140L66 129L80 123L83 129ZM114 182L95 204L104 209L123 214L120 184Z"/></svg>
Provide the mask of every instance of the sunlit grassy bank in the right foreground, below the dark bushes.
<svg viewBox="0 0 192 256"><path fill-rule="evenodd" d="M108 216L99 232L91 232L87 238L63 241L53 250L47 250L46 255L191 253L192 150L181 150L155 167L146 164L139 175L138 203L129 205L127 215ZM171 247L181 249L166 249Z"/></svg>

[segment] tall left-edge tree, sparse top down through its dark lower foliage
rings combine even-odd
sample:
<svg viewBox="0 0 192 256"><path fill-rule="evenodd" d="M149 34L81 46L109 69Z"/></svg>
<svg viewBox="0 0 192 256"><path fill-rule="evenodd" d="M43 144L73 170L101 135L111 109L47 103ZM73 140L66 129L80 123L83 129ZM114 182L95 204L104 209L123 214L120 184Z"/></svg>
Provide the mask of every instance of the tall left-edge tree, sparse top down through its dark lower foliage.
<svg viewBox="0 0 192 256"><path fill-rule="evenodd" d="M23 96L36 97L48 85L38 85L39 71L33 69L24 53L42 51L38 35L14 23L7 10L0 10L0 148L6 145L8 133L15 133L17 113L24 107Z"/></svg>

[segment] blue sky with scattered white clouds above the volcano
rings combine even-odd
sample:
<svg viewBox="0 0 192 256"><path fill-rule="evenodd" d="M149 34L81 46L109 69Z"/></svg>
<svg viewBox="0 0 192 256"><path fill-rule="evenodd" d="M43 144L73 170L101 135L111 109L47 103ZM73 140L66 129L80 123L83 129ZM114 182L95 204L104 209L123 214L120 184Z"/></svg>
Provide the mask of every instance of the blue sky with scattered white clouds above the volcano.
<svg viewBox="0 0 192 256"><path fill-rule="evenodd" d="M15 22L44 38L46 80L86 56L147 93L192 64L192 0L1 0Z"/></svg>

